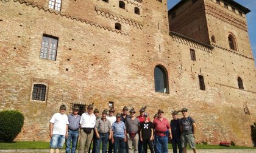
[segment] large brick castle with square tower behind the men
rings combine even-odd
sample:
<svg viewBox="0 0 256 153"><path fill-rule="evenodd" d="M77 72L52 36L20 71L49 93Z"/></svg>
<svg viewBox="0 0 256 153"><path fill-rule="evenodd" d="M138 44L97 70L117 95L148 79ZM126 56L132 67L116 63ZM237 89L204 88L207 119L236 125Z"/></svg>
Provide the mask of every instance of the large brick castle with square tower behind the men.
<svg viewBox="0 0 256 153"><path fill-rule="evenodd" d="M67 113L147 105L168 120L187 107L197 143L251 146L249 12L228 0L182 0L169 11L166 0L1 0L0 110L24 114L16 140L49 141L61 104Z"/></svg>

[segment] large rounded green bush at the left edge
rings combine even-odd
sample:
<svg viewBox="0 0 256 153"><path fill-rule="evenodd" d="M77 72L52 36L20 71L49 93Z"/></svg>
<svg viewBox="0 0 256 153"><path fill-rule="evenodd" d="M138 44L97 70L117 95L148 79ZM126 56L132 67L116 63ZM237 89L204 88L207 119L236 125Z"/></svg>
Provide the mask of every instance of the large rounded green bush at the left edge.
<svg viewBox="0 0 256 153"><path fill-rule="evenodd" d="M12 142L21 132L24 124L23 114L16 110L0 112L0 141Z"/></svg>

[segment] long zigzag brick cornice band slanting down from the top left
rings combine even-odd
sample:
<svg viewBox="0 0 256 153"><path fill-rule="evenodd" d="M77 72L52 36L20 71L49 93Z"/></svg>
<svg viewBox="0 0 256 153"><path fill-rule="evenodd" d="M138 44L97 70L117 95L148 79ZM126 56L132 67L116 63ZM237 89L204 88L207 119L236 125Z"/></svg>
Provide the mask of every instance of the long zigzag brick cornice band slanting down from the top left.
<svg viewBox="0 0 256 153"><path fill-rule="evenodd" d="M33 2L29 2L27 0L13 0L13 1L14 2L20 2L20 4L25 4L27 6L31 6L31 7L37 8L39 10L44 10L44 12L49 12L49 13L53 13L55 15L60 15L62 17L66 17L66 18L72 19L74 21L80 21L82 23L94 26L94 27L99 28L99 29L108 30L109 32L120 33L121 35L130 36L128 33L125 33L121 30L116 30L116 29L112 29L111 27L107 27L107 26L104 26L104 25L99 25L95 22L88 21L87 19L82 19L82 18L79 18L77 16L71 16L71 15L68 15L68 13L63 13L63 12L59 12L57 10L49 9L48 7L44 7L42 5L38 5L38 4L35 4Z"/></svg>

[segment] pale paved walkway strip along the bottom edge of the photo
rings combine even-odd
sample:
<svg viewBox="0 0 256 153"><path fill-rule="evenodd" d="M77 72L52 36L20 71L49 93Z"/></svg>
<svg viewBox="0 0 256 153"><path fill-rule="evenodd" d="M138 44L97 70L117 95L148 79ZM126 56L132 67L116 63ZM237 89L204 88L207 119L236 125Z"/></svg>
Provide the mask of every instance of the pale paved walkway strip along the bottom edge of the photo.
<svg viewBox="0 0 256 153"><path fill-rule="evenodd" d="M48 153L48 149L30 149L30 150L0 150L0 152L9 152L9 153L24 153L24 152L33 152L33 153ZM60 151L64 153L65 150L63 149ZM256 153L256 149L197 149L197 153ZM169 153L172 153L172 150L169 150ZM187 153L193 153L193 151L188 150Z"/></svg>

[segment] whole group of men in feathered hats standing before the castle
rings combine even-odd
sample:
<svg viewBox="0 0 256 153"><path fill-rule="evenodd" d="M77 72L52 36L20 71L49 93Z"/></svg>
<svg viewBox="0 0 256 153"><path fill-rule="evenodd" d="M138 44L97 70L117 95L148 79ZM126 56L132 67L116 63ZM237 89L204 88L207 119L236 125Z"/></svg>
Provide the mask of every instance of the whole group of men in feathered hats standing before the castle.
<svg viewBox="0 0 256 153"><path fill-rule="evenodd" d="M146 106L140 109L140 115L135 117L135 109L123 107L122 114L115 114L115 109L111 108L107 115L107 110L103 110L99 117L99 110L93 106L87 107L87 112L78 115L79 107L74 106L73 114L66 115L66 106L60 106L60 112L53 115L50 120L50 153L57 152L63 147L66 139L66 152L75 153L77 139L80 135L79 153L90 152L93 140L92 152L99 153L101 144L102 152L108 153L142 153L149 150L151 153L168 152L168 138L172 142L173 152L186 153L187 143L196 152L194 143L194 133L196 124L193 118L187 116L186 108L180 110L183 118L177 117L178 112L172 112L171 124L163 117L163 110L158 110L151 122L149 114L145 112ZM72 148L71 148L72 142Z"/></svg>

